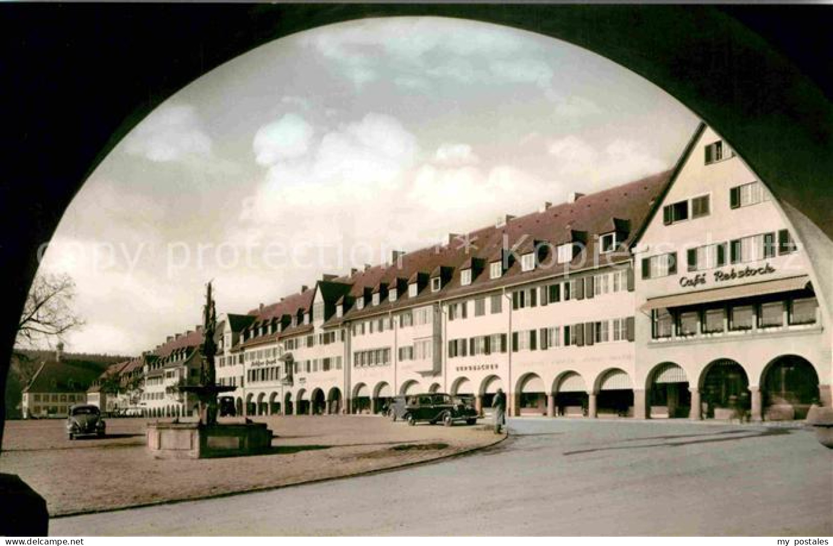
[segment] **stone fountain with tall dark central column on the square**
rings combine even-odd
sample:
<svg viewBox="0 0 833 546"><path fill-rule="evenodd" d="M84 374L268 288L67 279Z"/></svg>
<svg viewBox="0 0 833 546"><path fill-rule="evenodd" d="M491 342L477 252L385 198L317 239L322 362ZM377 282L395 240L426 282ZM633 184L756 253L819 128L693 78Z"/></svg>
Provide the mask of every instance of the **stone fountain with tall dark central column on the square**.
<svg viewBox="0 0 833 546"><path fill-rule="evenodd" d="M147 450L155 458L234 457L266 452L272 445L272 431L266 423L252 423L247 418L227 418L217 422L217 395L236 387L217 385L214 356L217 344L217 311L208 283L202 313L200 383L182 385L181 393L197 397L199 419L157 421L147 424Z"/></svg>

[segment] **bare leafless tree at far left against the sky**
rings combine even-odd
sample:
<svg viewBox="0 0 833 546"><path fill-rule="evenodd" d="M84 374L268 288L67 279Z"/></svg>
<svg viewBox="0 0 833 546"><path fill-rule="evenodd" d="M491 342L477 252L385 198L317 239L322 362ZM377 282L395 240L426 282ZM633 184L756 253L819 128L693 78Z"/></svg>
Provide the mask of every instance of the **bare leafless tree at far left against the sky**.
<svg viewBox="0 0 833 546"><path fill-rule="evenodd" d="M51 345L52 340L80 328L83 321L72 311L72 298L75 298L75 282L69 275L38 275L17 323L15 346L32 348L42 343Z"/></svg>

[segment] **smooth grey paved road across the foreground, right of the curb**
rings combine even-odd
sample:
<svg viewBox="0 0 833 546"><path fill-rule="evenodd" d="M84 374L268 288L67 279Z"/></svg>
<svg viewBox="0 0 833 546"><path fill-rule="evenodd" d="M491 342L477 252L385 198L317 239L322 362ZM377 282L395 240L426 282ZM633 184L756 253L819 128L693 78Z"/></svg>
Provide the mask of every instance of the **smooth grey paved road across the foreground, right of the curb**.
<svg viewBox="0 0 833 546"><path fill-rule="evenodd" d="M805 430L514 419L441 463L52 520L53 535L833 534L833 450ZM246 472L241 459L240 472Z"/></svg>

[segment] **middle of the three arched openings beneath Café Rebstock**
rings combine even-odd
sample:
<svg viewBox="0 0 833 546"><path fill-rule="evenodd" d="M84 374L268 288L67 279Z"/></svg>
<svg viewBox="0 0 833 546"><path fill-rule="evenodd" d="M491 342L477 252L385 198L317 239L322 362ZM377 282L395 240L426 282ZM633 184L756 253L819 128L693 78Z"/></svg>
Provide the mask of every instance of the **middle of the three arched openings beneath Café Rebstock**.
<svg viewBox="0 0 833 546"><path fill-rule="evenodd" d="M741 418L749 413L749 378L741 364L730 358L706 366L701 378L701 404L707 418Z"/></svg>

